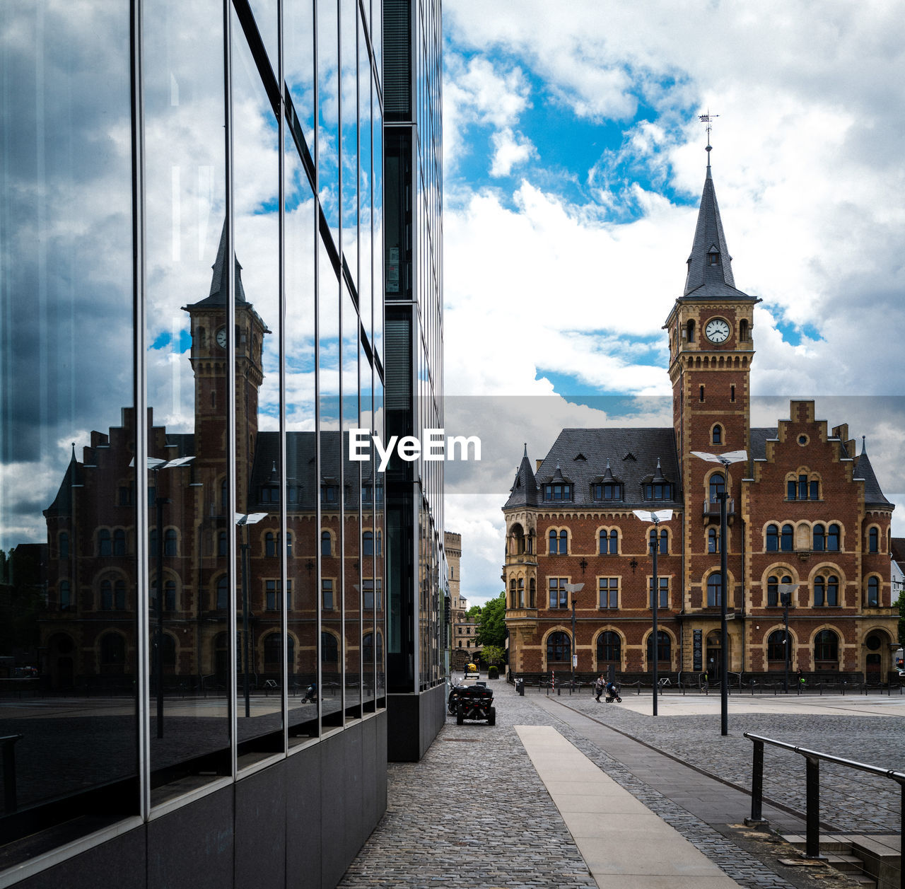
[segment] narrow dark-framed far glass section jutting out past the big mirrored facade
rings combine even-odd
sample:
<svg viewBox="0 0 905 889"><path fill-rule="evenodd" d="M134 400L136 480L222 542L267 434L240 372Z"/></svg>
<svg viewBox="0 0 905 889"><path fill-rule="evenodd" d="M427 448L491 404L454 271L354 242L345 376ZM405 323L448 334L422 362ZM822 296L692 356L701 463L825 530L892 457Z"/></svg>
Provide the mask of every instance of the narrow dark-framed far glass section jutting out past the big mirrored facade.
<svg viewBox="0 0 905 889"><path fill-rule="evenodd" d="M440 12L384 3L386 432L421 441L443 429ZM443 461L397 458L386 485L389 756L417 760L445 718Z"/></svg>

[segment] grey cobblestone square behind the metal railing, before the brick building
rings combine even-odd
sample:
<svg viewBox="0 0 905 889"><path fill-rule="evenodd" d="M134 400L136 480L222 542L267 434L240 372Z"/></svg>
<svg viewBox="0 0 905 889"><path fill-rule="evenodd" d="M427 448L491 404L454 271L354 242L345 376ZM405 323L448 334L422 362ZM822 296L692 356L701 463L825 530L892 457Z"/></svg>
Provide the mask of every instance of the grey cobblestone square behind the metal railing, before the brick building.
<svg viewBox="0 0 905 889"><path fill-rule="evenodd" d="M743 737L745 731L884 769L905 769L905 719L900 716L730 711L729 735L723 737L719 734L719 696L717 700L710 696L712 713L693 716L665 715L669 695L664 697L657 719L624 706L602 706L589 694L557 700L745 789L751 787L753 749L751 741ZM839 704L844 704L843 698ZM804 757L765 747L764 796L804 812ZM900 811L900 789L895 781L821 763L820 813L826 824L843 833L889 834L900 830Z"/></svg>

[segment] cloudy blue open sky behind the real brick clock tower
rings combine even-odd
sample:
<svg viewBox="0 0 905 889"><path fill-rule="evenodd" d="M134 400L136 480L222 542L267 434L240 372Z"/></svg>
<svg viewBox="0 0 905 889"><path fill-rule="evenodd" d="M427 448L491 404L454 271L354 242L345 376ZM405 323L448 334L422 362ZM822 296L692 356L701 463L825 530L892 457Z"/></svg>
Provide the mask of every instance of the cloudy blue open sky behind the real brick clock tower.
<svg viewBox="0 0 905 889"><path fill-rule="evenodd" d="M462 595L502 589L500 508L564 425L669 425L662 323L711 163L758 296L752 423L816 399L866 435L905 535L905 16L894 2L443 5L447 464Z"/></svg>

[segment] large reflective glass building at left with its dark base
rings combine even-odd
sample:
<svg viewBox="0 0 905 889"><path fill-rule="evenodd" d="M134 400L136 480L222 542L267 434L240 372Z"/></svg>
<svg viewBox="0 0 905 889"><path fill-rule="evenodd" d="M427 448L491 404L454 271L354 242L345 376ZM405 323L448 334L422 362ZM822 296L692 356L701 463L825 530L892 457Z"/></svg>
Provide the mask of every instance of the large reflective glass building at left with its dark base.
<svg viewBox="0 0 905 889"><path fill-rule="evenodd" d="M0 9L0 885L334 885L386 808L383 18Z"/></svg>

